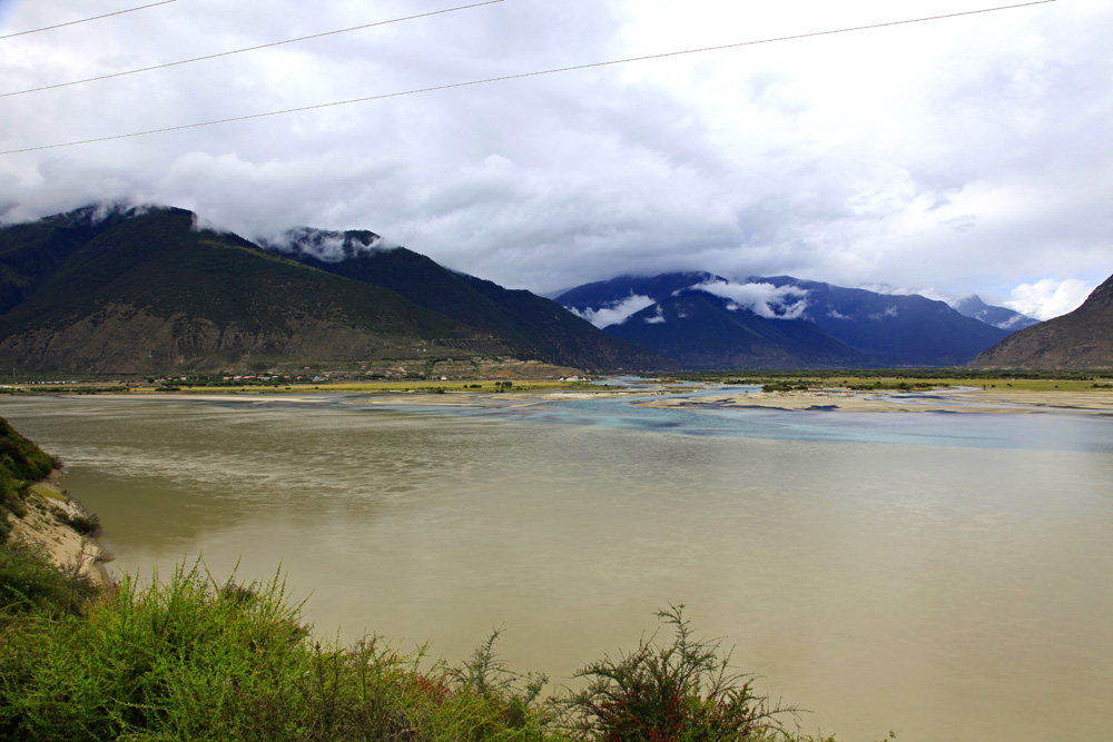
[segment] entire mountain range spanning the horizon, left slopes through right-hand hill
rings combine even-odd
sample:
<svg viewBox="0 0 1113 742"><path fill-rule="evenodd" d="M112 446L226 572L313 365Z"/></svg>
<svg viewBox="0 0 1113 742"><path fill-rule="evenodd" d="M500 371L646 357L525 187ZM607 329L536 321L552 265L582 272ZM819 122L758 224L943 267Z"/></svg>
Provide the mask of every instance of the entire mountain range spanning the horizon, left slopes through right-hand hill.
<svg viewBox="0 0 1113 742"><path fill-rule="evenodd" d="M184 209L91 206L0 228L0 367L23 373L475 356L592 372L1113 363L1109 281L1034 325L976 296L948 306L790 276L621 276L555 298L366 230L252 241Z"/></svg>

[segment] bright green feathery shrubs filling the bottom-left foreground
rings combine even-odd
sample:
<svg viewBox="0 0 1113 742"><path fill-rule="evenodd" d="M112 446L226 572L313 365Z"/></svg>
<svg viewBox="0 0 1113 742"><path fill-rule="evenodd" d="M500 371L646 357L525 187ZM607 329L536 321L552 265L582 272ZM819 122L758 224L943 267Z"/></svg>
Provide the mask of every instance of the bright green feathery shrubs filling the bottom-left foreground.
<svg viewBox="0 0 1113 742"><path fill-rule="evenodd" d="M83 616L30 614L0 633L0 739L540 739L518 695L480 682L490 663L422 673L376 637L315 642L299 607L277 576L219 584L197 565L125 580Z"/></svg>

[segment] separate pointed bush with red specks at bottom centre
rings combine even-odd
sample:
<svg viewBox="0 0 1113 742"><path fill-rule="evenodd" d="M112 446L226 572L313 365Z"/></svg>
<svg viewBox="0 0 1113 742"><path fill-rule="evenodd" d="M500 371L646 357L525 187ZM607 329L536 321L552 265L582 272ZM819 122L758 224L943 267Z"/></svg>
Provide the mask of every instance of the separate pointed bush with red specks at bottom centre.
<svg viewBox="0 0 1113 742"><path fill-rule="evenodd" d="M654 634L618 660L604 657L577 673L588 685L561 700L565 725L583 740L605 742L742 742L790 739L779 722L796 709L755 692L752 676L735 672L720 642L697 639L683 605L658 617L671 643Z"/></svg>

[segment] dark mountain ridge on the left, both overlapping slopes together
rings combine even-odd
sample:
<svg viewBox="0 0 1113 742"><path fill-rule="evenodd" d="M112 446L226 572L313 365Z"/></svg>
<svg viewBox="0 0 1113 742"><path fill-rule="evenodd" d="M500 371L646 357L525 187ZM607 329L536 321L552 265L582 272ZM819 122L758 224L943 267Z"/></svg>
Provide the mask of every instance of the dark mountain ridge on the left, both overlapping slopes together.
<svg viewBox="0 0 1113 742"><path fill-rule="evenodd" d="M370 233L344 239L353 249L375 241ZM402 248L314 264L296 247L301 259L167 207L87 207L4 227L0 365L159 373L496 355L588 369L672 366L549 299ZM417 297L422 286L418 301L403 295Z"/></svg>

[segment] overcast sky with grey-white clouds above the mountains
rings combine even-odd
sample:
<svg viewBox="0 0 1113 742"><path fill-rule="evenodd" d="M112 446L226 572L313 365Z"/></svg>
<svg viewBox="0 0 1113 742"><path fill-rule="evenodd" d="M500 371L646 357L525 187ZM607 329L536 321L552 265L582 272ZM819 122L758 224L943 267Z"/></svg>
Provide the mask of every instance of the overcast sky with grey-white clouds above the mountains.
<svg viewBox="0 0 1113 742"><path fill-rule="evenodd" d="M0 0L0 37L118 13L0 38L0 220L161 204L248 238L370 229L545 294L707 270L978 293L1041 319L1113 274L1107 0L840 33L823 32L1009 3L429 14L476 1ZM353 99L371 100L52 147Z"/></svg>

